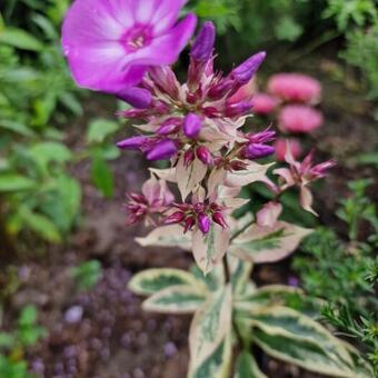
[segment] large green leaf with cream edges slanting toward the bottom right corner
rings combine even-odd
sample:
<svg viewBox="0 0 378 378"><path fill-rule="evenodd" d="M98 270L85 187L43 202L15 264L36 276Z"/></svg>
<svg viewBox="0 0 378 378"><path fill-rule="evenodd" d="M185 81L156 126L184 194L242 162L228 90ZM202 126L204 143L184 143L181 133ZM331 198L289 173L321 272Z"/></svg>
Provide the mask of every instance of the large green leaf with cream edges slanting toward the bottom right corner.
<svg viewBox="0 0 378 378"><path fill-rule="evenodd" d="M345 345L298 311L279 306L259 309L251 311L246 322L252 327L253 341L267 354L311 371L355 377Z"/></svg>

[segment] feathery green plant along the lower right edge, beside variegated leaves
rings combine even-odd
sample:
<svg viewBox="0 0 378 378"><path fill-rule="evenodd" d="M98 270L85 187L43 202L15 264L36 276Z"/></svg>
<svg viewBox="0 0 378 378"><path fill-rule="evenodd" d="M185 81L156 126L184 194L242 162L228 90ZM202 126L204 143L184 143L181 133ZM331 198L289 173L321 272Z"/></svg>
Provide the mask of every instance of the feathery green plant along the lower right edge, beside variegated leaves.
<svg viewBox="0 0 378 378"><path fill-rule="evenodd" d="M378 208L366 195L371 185L371 179L352 181L350 197L340 200L337 216L347 240L319 228L304 242L294 268L306 292L325 301L322 318L358 342L378 372Z"/></svg>

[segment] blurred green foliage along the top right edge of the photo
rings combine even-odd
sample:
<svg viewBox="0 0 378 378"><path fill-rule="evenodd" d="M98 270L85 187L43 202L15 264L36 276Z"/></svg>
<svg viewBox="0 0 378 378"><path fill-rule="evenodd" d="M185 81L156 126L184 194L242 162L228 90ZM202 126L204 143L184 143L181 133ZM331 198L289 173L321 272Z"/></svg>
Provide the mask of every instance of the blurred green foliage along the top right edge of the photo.
<svg viewBox="0 0 378 378"><path fill-rule="evenodd" d="M357 68L358 81L369 98L378 98L376 0L193 0L188 8L216 22L232 60L251 49L267 49L277 58L268 62L273 71L338 40L342 46L337 49L339 56ZM239 47L237 51L231 49L233 43Z"/></svg>

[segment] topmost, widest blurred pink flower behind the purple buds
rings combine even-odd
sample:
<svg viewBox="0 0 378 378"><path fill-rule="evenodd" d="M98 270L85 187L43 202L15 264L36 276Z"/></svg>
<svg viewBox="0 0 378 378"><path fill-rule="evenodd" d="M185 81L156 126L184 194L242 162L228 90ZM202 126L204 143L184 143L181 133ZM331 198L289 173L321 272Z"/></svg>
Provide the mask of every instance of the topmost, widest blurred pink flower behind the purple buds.
<svg viewBox="0 0 378 378"><path fill-rule="evenodd" d="M278 73L270 78L268 90L286 101L316 103L320 100L321 84L301 73Z"/></svg>

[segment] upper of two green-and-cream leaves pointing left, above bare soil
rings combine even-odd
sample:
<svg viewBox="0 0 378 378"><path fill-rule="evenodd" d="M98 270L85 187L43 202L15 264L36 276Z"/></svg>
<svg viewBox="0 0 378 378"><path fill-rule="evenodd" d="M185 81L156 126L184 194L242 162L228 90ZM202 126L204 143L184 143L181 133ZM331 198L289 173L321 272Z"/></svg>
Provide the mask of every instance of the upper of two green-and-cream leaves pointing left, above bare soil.
<svg viewBox="0 0 378 378"><path fill-rule="evenodd" d="M187 286L206 292L207 287L191 273L179 269L148 269L132 277L129 289L138 295L149 296L177 286Z"/></svg>

